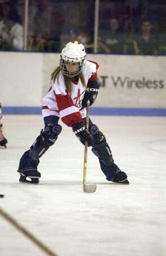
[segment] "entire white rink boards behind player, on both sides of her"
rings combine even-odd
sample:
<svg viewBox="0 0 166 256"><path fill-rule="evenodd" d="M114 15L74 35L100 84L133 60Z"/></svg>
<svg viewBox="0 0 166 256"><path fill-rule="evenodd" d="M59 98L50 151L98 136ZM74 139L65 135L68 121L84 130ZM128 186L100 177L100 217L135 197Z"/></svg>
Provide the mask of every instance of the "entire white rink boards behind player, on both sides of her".
<svg viewBox="0 0 166 256"><path fill-rule="evenodd" d="M87 55L99 63L96 107L166 108L164 56ZM0 52L3 106L40 106L59 53Z"/></svg>

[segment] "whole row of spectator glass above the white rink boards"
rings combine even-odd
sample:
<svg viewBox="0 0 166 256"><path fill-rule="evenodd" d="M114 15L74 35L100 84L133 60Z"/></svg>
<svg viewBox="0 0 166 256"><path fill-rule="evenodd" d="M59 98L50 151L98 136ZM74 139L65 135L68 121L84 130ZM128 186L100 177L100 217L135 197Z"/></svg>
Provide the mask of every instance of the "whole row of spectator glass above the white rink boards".
<svg viewBox="0 0 166 256"><path fill-rule="evenodd" d="M23 51L25 1L0 1L0 51ZM59 52L78 40L94 49L95 0L28 0L28 51ZM164 0L99 1L98 53L166 55Z"/></svg>

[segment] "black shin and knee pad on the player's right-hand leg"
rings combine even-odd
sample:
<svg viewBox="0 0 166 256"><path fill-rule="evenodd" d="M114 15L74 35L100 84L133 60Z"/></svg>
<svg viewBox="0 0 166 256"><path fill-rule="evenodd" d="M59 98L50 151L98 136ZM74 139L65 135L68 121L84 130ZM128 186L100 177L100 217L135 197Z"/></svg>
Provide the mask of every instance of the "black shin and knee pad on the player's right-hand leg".
<svg viewBox="0 0 166 256"><path fill-rule="evenodd" d="M112 152L107 144L105 136L97 125L92 125L90 127L90 133L93 135L93 148L92 152L103 162L106 166L113 164L114 160L112 157Z"/></svg>

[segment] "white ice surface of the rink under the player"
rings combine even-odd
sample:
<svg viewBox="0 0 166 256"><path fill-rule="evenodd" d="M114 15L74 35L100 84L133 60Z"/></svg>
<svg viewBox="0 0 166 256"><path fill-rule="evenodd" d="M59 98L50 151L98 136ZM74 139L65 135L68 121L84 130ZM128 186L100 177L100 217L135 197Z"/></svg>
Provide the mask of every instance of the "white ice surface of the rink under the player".
<svg viewBox="0 0 166 256"><path fill-rule="evenodd" d="M40 184L20 184L19 158L39 135L42 117L5 115L1 207L59 256L165 256L166 118L91 119L130 185L106 181L88 148L87 184L97 184L97 190L84 193L84 148L65 125L41 158ZM0 256L46 255L1 216L0 236Z"/></svg>

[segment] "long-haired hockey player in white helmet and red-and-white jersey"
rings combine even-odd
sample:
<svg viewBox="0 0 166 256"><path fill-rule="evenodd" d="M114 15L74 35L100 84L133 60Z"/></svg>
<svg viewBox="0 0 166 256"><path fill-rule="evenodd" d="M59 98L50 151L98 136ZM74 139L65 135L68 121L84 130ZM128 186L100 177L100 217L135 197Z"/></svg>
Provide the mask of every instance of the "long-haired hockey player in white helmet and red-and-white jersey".
<svg viewBox="0 0 166 256"><path fill-rule="evenodd" d="M99 158L101 170L107 180L129 184L125 172L114 163L104 134L91 119L89 129L86 129L87 101L90 100L92 105L99 91L99 65L86 60L85 57L85 48L78 42L67 43L62 49L59 67L51 75L52 86L43 100L42 115L45 128L20 159L19 181L39 183L39 159L61 133L62 127L58 125L61 118L63 123L72 127L80 142L84 144L87 141L88 146L92 147L92 152Z"/></svg>

